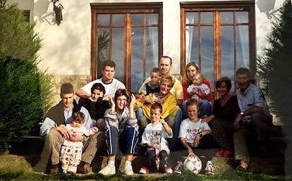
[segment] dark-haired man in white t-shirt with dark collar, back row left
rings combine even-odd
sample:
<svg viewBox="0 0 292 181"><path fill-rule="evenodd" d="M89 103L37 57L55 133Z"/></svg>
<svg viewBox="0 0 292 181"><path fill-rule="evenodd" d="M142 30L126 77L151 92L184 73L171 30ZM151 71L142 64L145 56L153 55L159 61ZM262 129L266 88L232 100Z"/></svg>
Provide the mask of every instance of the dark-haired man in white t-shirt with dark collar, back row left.
<svg viewBox="0 0 292 181"><path fill-rule="evenodd" d="M108 100L110 97L114 97L117 89L126 89L123 82L114 78L115 68L116 63L114 63L114 61L103 61L102 78L89 82L87 85L78 89L76 94L80 96L80 98L90 99L92 85L101 83L105 88L104 99Z"/></svg>

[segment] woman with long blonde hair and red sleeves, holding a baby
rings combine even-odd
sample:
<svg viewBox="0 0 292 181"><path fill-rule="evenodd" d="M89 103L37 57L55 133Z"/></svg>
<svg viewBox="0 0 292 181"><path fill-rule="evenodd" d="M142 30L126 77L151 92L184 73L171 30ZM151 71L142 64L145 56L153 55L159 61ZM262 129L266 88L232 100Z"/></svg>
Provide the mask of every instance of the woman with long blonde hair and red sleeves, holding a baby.
<svg viewBox="0 0 292 181"><path fill-rule="evenodd" d="M186 111L186 101L190 99L190 95L187 92L188 86L192 85L193 83L193 75L195 73L200 73L200 67L195 62L190 62L187 65L185 65L185 75L183 76L183 104L181 105L181 111L183 112L183 119L187 118L187 111ZM209 89L211 89L211 85L209 80L204 79L203 84L207 85ZM205 100L202 100L202 104L200 106L200 115L199 118L202 118L203 116L209 116L211 114L211 104L209 104L209 101L212 99L212 94L208 94Z"/></svg>

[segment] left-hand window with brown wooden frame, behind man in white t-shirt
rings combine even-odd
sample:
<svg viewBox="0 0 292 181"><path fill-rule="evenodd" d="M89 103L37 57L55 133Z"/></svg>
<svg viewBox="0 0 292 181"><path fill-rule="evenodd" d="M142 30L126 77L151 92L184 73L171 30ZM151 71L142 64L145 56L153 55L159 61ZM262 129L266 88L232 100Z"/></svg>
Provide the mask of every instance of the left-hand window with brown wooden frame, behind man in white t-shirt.
<svg viewBox="0 0 292 181"><path fill-rule="evenodd" d="M92 79L101 63L116 63L115 77L137 92L162 55L162 4L92 4Z"/></svg>

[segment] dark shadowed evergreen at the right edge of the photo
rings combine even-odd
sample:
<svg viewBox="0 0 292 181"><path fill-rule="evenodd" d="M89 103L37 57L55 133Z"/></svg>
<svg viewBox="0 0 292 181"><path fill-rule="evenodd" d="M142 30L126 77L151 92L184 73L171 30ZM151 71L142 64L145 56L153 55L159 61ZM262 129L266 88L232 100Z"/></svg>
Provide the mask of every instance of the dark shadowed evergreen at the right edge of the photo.
<svg viewBox="0 0 292 181"><path fill-rule="evenodd" d="M286 1L272 22L272 32L267 36L269 47L258 58L258 70L265 81L264 92L269 98L272 113L285 127L291 127L292 85L292 5Z"/></svg>

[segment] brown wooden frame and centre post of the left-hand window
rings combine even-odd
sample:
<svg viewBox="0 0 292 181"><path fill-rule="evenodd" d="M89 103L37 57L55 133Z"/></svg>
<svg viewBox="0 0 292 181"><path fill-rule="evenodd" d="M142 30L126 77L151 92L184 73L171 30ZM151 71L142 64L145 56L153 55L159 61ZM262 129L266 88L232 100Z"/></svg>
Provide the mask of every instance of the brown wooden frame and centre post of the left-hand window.
<svg viewBox="0 0 292 181"><path fill-rule="evenodd" d="M91 57L90 57L90 76L91 80L97 79L97 14L100 13L158 13L159 18L159 44L158 44L158 57L162 56L162 3L96 3L90 4L92 9L92 28L91 28ZM125 11L126 10L126 11ZM126 17L128 18L128 17ZM125 18L125 22L126 22ZM135 27L135 25L133 26ZM126 33L130 31L130 23L125 28L125 36ZM144 37L145 38L145 37ZM123 83L126 85L127 89L130 89L130 80L131 80L131 60L130 60L130 38L125 39L125 47L124 47L124 81ZM111 56L111 54L110 54ZM145 60L145 54L143 55L143 61ZM145 65L145 62L144 62ZM145 66L144 66L145 69ZM145 70L144 70L145 72ZM145 75L143 76L145 77Z"/></svg>

